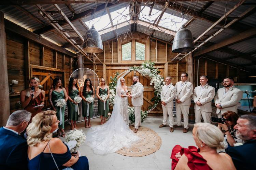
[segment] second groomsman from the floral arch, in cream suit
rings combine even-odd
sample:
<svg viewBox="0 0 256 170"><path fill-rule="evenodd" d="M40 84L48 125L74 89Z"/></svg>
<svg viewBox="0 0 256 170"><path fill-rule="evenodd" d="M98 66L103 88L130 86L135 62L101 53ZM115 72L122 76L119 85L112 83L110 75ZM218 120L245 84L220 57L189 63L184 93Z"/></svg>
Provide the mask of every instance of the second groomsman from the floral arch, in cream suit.
<svg viewBox="0 0 256 170"><path fill-rule="evenodd" d="M188 113L191 104L191 94L193 92L193 84L187 81L188 73L181 74L181 81L175 84L177 94L175 96L176 101L176 116L177 124L174 128L181 128L181 114L183 115L184 129L183 133L188 132Z"/></svg>

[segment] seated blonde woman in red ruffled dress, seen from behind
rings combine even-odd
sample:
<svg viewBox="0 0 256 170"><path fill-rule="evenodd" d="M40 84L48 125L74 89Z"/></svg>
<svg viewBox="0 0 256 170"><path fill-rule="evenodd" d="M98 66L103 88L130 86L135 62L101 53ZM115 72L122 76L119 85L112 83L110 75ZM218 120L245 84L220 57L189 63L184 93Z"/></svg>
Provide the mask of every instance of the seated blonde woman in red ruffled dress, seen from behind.
<svg viewBox="0 0 256 170"><path fill-rule="evenodd" d="M216 126L210 123L196 123L192 133L198 149L194 146L182 148L176 145L171 154L172 170L235 169L228 154L216 151L225 147L223 134Z"/></svg>

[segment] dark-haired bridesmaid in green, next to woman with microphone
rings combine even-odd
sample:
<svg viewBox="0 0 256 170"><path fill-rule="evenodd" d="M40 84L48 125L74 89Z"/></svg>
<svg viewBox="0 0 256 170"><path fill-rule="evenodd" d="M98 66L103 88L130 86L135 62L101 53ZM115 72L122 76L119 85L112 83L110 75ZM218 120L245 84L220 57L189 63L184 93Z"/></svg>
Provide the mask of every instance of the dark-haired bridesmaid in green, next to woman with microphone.
<svg viewBox="0 0 256 170"><path fill-rule="evenodd" d="M67 95L67 91L65 88L62 88L62 84L61 84L61 80L59 78L55 78L53 79L53 87L49 90L48 92L49 95L49 102L53 108L53 110L56 112L56 116L58 118L59 121L61 121L59 123L59 133L58 133L58 137L62 136L65 137L65 131L64 131L64 123L65 123L65 108L61 107L61 115L60 115L60 107L56 107L56 103L55 100L58 99L65 99L65 101L67 102L68 100L68 95ZM60 119L61 116L61 119Z"/></svg>

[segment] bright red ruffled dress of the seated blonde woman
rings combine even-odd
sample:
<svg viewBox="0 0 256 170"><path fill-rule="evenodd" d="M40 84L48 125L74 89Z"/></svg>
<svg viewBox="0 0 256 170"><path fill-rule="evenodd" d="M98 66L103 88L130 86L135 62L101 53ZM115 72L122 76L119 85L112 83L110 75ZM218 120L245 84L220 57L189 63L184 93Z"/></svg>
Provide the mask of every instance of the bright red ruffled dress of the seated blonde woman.
<svg viewBox="0 0 256 170"><path fill-rule="evenodd" d="M185 154L188 158L188 167L192 170L212 170L212 168L207 165L207 160L205 160L199 153L198 149L194 146L189 146L188 148L182 148L180 145L176 145L172 149L171 159L172 159L172 170L175 169L179 159L175 157L175 154L180 152L181 155Z"/></svg>

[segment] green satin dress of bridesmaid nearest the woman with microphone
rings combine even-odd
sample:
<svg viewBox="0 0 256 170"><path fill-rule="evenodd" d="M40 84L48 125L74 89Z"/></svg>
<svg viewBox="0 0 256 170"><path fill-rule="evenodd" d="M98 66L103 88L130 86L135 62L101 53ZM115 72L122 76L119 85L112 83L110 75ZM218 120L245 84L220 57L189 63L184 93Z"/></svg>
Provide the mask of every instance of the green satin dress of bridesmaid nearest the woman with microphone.
<svg viewBox="0 0 256 170"><path fill-rule="evenodd" d="M61 90L60 92L58 91L55 91L53 90L52 92L52 102L53 102L53 106L55 107L57 113L56 113L56 116L58 118L58 120L60 120L60 107L56 107L56 103L55 100L58 100L58 99L65 99L65 94L64 94L64 91ZM59 124L59 128L61 129L64 129L64 123L65 123L65 117L64 117L64 114L65 114L65 108L66 106L64 107L61 107L61 116L62 116L62 123L61 125Z"/></svg>

